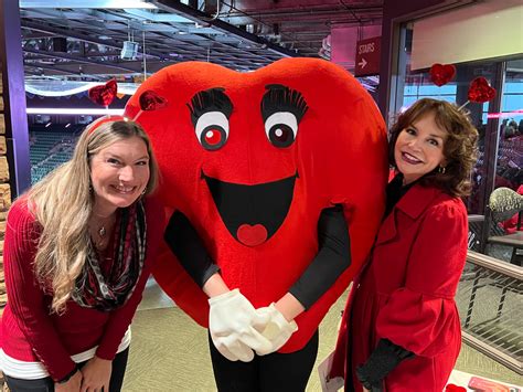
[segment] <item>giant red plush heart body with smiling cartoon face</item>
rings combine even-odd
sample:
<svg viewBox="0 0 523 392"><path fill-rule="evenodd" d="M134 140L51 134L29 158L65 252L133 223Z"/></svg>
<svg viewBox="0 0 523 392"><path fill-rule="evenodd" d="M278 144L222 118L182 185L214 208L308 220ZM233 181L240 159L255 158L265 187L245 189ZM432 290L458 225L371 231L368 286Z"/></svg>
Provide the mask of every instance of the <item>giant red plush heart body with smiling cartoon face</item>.
<svg viewBox="0 0 523 392"><path fill-rule="evenodd" d="M148 91L154 95L140 99ZM351 267L298 316L280 351L301 349L366 258L383 215L386 131L374 100L345 70L318 59L242 73L174 64L142 83L126 116L157 105L157 95L168 107L139 117L161 170L157 195L186 215L224 282L255 308L297 282L318 252L322 210L343 204ZM169 248L153 274L207 325L207 297Z"/></svg>

